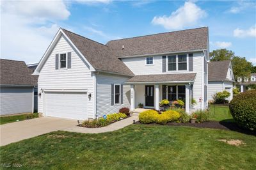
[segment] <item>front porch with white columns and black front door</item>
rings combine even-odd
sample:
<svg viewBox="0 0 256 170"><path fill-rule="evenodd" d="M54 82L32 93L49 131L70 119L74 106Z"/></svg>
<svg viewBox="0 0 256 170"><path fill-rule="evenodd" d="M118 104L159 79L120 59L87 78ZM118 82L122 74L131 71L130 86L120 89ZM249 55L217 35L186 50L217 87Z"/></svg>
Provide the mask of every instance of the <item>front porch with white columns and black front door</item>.
<svg viewBox="0 0 256 170"><path fill-rule="evenodd" d="M160 110L159 102L168 99L170 102L180 99L185 105L184 109L191 113L192 86L187 84L131 84L131 111L141 112L139 104L144 109Z"/></svg>

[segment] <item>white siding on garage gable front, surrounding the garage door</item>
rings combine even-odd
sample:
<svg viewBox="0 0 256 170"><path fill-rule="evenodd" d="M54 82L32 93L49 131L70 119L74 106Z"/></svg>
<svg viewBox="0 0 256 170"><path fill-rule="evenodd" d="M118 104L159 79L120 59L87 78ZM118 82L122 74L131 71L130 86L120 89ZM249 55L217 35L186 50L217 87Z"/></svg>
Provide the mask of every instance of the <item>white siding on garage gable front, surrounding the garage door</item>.
<svg viewBox="0 0 256 170"><path fill-rule="evenodd" d="M55 54L63 54L71 52L72 68L55 70ZM92 94L92 98L87 102L88 118L95 118L93 114L93 77L92 73L86 66L83 57L77 55L74 49L61 36L60 40L52 50L49 58L44 63L38 77L38 93L42 93L41 89L86 89L88 94ZM44 93L38 97L38 112L44 115Z"/></svg>

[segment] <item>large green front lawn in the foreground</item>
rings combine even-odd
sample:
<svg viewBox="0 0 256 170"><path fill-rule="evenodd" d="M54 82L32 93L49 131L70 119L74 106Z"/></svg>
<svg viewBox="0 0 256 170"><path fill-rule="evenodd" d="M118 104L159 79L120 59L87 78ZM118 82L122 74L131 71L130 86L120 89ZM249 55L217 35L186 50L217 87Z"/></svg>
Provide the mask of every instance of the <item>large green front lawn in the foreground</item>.
<svg viewBox="0 0 256 170"><path fill-rule="evenodd" d="M240 139L231 146L218 139ZM256 169L256 137L228 130L130 125L104 134L52 132L1 148L24 169Z"/></svg>

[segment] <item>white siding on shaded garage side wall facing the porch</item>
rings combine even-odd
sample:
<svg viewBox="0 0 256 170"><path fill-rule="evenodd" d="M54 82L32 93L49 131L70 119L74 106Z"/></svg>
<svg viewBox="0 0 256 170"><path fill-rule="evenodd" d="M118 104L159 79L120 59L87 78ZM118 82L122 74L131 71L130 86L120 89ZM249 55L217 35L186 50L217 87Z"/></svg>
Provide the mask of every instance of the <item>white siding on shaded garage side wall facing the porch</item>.
<svg viewBox="0 0 256 170"><path fill-rule="evenodd" d="M122 107L130 107L130 85L125 85L129 77L120 75L111 75L99 73L96 75L97 80L97 117L104 114L118 112ZM124 84L123 86L123 104L111 105L111 84Z"/></svg>

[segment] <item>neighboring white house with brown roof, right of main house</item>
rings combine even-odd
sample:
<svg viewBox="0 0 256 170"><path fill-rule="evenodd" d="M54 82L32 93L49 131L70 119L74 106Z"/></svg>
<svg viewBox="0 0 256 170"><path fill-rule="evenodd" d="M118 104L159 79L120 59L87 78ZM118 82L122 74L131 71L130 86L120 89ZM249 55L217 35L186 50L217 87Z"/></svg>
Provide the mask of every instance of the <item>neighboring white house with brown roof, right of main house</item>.
<svg viewBox="0 0 256 170"><path fill-rule="evenodd" d="M234 73L230 60L211 61L208 68L208 100L212 101L214 94L226 90L230 93L227 100L231 101L233 99Z"/></svg>

